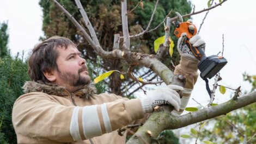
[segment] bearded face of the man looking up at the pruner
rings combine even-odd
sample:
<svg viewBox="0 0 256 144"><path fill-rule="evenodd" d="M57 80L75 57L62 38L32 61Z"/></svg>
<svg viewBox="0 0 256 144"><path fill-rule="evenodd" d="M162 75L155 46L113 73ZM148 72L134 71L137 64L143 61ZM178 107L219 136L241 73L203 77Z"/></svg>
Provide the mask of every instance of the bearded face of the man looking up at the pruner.
<svg viewBox="0 0 256 144"><path fill-rule="evenodd" d="M81 53L72 45L68 48L57 48L56 60L58 70L54 70L56 83L65 86L71 91L81 89L90 83L86 60L81 58Z"/></svg>

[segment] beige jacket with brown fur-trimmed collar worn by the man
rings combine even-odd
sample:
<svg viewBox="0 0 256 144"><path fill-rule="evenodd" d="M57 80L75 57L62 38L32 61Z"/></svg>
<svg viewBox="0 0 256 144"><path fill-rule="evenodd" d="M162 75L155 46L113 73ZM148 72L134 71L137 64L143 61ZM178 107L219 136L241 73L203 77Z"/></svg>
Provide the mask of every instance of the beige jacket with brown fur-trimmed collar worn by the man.
<svg viewBox="0 0 256 144"><path fill-rule="evenodd" d="M186 107L196 83L197 64L181 58L175 68L175 74L181 73L187 78L182 107ZM125 143L126 133L119 136L117 129L144 118L138 98L129 100L107 93L96 95L93 84L74 93L42 82L26 82L23 89L26 94L15 101L12 115L19 144Z"/></svg>

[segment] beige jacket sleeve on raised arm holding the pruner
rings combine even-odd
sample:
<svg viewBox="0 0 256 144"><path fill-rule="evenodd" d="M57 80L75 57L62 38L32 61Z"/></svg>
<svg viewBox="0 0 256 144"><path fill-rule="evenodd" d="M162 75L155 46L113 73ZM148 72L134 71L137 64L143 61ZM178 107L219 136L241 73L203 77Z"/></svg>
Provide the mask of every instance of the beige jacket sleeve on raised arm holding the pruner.
<svg viewBox="0 0 256 144"><path fill-rule="evenodd" d="M184 85L184 91L181 98L180 110L172 111L175 115L181 115L187 106L194 84L197 82L198 62L198 60L194 61L181 56L180 64L175 67L174 74L182 74L186 78L186 84Z"/></svg>

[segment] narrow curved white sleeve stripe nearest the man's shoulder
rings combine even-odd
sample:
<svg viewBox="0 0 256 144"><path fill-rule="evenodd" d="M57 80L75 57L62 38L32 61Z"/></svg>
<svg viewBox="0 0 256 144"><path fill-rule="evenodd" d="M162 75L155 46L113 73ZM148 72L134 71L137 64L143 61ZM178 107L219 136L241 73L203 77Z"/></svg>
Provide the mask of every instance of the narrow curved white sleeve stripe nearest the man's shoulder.
<svg viewBox="0 0 256 144"><path fill-rule="evenodd" d="M79 126L78 126L78 111L80 107L75 107L72 117L71 117L71 122L70 122L70 134L73 138L74 141L82 141L80 133L79 133Z"/></svg>

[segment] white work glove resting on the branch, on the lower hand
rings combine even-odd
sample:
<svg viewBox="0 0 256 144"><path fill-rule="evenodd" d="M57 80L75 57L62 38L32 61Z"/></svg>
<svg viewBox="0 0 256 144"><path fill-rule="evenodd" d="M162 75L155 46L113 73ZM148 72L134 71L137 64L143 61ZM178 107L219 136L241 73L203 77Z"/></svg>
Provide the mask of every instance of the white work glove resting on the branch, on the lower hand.
<svg viewBox="0 0 256 144"><path fill-rule="evenodd" d="M149 91L147 96L140 98L144 113L153 112L154 107L162 104L170 104L174 109L180 109L180 96L175 90L183 90L178 85L167 85L159 87L153 91Z"/></svg>

